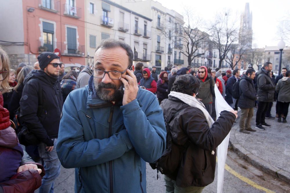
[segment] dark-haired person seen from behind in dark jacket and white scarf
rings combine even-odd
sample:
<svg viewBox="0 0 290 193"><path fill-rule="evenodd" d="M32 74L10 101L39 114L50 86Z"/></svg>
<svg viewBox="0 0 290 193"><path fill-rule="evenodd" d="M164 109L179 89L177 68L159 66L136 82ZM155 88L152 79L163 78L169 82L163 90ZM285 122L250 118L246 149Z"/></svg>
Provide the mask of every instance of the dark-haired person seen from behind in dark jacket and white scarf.
<svg viewBox="0 0 290 193"><path fill-rule="evenodd" d="M180 75L173 83L169 98L160 105L164 120L169 121L172 143L187 146L180 148L181 161L176 175L164 177L166 192L202 192L213 182L216 147L228 135L237 117L237 111L222 111L214 122L195 98L199 87L197 77Z"/></svg>

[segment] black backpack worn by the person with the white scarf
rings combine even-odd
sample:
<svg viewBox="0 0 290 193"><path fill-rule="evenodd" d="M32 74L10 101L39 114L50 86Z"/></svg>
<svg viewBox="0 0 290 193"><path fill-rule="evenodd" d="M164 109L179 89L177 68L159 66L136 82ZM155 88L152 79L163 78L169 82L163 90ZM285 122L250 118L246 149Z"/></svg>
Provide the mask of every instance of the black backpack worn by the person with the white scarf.
<svg viewBox="0 0 290 193"><path fill-rule="evenodd" d="M169 123L184 109L177 111L169 121L165 118L165 127L166 127L166 150L162 156L153 163L149 163L153 170L157 169L157 180L158 172L167 175L173 180L176 180L178 166L182 159L182 152L188 148L190 141L187 141L184 146L179 146L172 141L172 136L170 132Z"/></svg>

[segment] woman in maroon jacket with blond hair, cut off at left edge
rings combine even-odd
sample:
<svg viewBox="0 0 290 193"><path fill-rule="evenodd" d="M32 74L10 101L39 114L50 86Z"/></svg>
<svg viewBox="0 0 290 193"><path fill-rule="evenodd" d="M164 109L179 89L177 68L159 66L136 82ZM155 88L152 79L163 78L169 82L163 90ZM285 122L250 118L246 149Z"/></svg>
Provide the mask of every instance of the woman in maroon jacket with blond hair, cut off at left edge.
<svg viewBox="0 0 290 193"><path fill-rule="evenodd" d="M9 120L9 112L3 108L2 93L10 91L9 69L10 63L6 52L0 47L0 189L3 192L34 192L41 185L41 166L30 162L27 154L23 152L12 122ZM24 156L23 156L24 155ZM24 164L21 164L24 163ZM26 164L27 163L27 164ZM12 180L10 180L13 178Z"/></svg>

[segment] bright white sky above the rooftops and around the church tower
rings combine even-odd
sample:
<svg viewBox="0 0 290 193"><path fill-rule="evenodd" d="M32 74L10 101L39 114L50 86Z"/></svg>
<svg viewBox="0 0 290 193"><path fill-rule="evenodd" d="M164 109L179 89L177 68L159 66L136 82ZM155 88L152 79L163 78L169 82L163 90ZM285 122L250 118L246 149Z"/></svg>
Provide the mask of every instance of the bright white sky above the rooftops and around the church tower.
<svg viewBox="0 0 290 193"><path fill-rule="evenodd" d="M183 7L190 7L204 20L211 20L219 11L231 9L233 13L242 13L245 4L249 3L250 12L253 13L253 47L262 48L267 46L277 46L281 39L278 33L279 21L290 14L289 0L155 0L164 7L173 9L183 14ZM240 15L240 14L239 14ZM240 20L238 21L240 24Z"/></svg>

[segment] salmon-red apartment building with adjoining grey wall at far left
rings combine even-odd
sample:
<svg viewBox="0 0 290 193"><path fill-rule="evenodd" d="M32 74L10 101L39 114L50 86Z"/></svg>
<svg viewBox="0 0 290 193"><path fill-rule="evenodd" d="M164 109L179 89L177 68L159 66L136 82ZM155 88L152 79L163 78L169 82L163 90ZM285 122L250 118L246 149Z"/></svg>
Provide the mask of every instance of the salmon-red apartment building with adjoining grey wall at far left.
<svg viewBox="0 0 290 193"><path fill-rule="evenodd" d="M11 0L0 9L0 40L10 43L5 49L14 68L20 62L32 65L42 52L58 53L66 67L85 64L83 1Z"/></svg>

